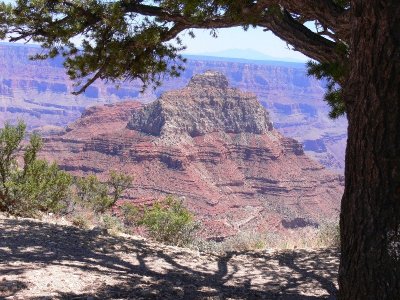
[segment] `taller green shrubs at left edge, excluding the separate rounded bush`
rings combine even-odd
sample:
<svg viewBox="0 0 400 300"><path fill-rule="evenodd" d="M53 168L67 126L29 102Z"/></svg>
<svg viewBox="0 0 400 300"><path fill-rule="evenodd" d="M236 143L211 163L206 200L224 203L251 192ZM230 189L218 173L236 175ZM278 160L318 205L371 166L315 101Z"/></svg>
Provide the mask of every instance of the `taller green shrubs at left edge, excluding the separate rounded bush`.
<svg viewBox="0 0 400 300"><path fill-rule="evenodd" d="M43 212L58 213L84 206L105 213L129 188L133 178L115 171L101 182L95 175L74 178L53 163L38 159L42 139L26 125L6 123L0 129L0 211L36 217ZM79 222L78 222L79 223Z"/></svg>

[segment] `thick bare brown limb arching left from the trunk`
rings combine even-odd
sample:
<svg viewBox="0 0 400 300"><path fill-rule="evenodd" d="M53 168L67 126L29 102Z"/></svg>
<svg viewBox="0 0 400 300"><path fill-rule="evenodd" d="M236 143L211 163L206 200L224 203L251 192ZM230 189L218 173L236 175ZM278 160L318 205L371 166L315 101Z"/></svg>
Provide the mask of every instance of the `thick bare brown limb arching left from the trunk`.
<svg viewBox="0 0 400 300"><path fill-rule="evenodd" d="M280 5L282 13L269 13L273 5ZM310 19L317 19L328 28L345 26L338 25L338 19L344 19L346 10L331 0L260 0L255 4L244 6L243 18L232 18L229 15L209 16L198 21L181 14L172 14L161 7L138 4L136 1L123 1L123 6L129 12L156 16L162 20L177 22L187 28L227 28L233 26L258 25L271 30L275 35L291 44L295 50L322 62L340 61L343 59L337 52L336 43L320 36L296 21L289 13L294 12ZM284 8L284 9L283 9ZM330 36L336 37L335 33Z"/></svg>

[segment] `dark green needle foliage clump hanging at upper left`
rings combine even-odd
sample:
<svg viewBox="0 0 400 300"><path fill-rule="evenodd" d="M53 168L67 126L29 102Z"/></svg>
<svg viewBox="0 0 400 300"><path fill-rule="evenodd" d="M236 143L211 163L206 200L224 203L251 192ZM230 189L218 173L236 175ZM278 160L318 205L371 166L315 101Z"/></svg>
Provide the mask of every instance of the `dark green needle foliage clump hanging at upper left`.
<svg viewBox="0 0 400 300"><path fill-rule="evenodd" d="M78 93L99 78L140 79L144 86L158 86L164 74L178 76L184 59L177 53L183 48L164 42L175 37L170 25L126 14L123 5L123 1L18 0L15 8L0 7L0 32L4 37L6 31L23 28L25 34L10 40L30 36L48 50L34 59L64 56ZM74 43L77 36L81 45Z"/></svg>

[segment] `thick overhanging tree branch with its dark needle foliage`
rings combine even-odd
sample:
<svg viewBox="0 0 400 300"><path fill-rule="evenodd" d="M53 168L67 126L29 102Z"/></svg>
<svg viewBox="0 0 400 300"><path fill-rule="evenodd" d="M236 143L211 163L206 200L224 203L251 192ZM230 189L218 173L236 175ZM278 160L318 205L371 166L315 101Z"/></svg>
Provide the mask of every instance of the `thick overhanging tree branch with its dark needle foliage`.
<svg viewBox="0 0 400 300"><path fill-rule="evenodd" d="M199 2L200 7L188 9L184 7L187 1L178 0L120 0L101 4L64 0L46 1L45 13L32 3L18 4L9 13L8 34L16 40L33 38L53 53L61 51L70 58L67 68L75 79L87 79L94 74L79 92L98 78L147 78L145 74L149 72L149 78L153 78L154 74L165 72L163 59L177 58L181 50L167 42L192 28L259 26L319 62L345 65L347 60L339 46L347 41L349 30L343 28L347 28L348 10L333 0L206 0ZM304 26L304 20L321 24L329 39ZM78 35L84 35L86 42L86 50L79 57L74 56L77 50L70 42ZM121 55L126 51L131 55ZM106 60L108 65L104 64Z"/></svg>

